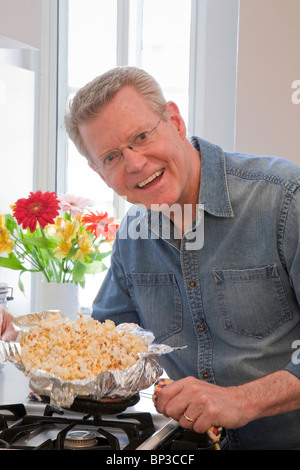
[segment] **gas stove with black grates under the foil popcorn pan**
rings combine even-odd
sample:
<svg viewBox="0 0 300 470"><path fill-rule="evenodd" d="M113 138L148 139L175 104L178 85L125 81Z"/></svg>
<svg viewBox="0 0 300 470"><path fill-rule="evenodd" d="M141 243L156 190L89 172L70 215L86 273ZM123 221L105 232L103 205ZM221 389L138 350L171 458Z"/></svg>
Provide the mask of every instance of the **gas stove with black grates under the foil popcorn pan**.
<svg viewBox="0 0 300 470"><path fill-rule="evenodd" d="M32 402L29 396L28 379L5 364L0 369L0 450L214 449L207 435L158 414L151 388L116 403L78 398L70 409Z"/></svg>

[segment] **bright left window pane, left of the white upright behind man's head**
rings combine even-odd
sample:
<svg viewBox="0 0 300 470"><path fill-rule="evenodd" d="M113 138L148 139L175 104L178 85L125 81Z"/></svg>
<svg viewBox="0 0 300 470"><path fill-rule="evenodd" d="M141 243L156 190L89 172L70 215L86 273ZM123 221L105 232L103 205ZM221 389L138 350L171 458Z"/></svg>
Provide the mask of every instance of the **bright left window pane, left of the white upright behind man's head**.
<svg viewBox="0 0 300 470"><path fill-rule="evenodd" d="M66 103L80 87L116 65L117 0L72 0L61 2L62 9L63 29L67 31L60 43L63 80L59 86L64 92L61 93L59 111L63 113ZM62 138L66 136L62 134ZM61 165L65 174L58 192L90 198L101 210L112 213L112 191L91 171L72 142L68 140L61 149L63 154L58 157L66 160L66 165Z"/></svg>

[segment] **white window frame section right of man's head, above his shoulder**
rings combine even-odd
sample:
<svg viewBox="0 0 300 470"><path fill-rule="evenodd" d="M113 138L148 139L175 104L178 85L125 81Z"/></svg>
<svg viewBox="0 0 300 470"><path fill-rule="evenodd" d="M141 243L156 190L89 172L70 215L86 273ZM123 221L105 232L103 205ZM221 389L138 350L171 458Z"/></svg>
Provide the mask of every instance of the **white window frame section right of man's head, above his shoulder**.
<svg viewBox="0 0 300 470"><path fill-rule="evenodd" d="M236 139L239 11L240 0L192 0L188 130L228 151Z"/></svg>

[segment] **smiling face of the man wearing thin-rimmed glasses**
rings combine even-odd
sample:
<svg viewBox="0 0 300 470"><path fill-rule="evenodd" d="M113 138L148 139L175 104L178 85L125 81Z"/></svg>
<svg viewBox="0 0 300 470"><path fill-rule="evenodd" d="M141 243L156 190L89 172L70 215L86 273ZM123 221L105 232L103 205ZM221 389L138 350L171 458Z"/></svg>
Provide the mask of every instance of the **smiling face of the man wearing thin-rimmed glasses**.
<svg viewBox="0 0 300 470"><path fill-rule="evenodd" d="M167 120L159 121L160 115L150 109L144 97L125 87L95 118L79 125L92 166L101 178L129 202L147 208L152 204L196 204L198 200L199 154L186 139L175 103L168 102L164 114ZM149 145L127 147L133 135L156 125ZM106 171L100 165L103 156L116 149L122 149L122 157Z"/></svg>

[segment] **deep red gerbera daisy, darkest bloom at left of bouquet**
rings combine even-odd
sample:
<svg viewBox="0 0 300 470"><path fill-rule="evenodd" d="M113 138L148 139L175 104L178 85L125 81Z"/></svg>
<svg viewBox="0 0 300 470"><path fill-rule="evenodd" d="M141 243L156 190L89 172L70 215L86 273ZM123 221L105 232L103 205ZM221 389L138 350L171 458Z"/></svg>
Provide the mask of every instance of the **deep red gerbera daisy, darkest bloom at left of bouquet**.
<svg viewBox="0 0 300 470"><path fill-rule="evenodd" d="M18 199L13 214L23 229L28 227L30 232L33 233L37 223L42 228L52 224L59 213L59 208L59 201L54 192L42 193L42 191L37 191L36 193L31 192L27 199Z"/></svg>

